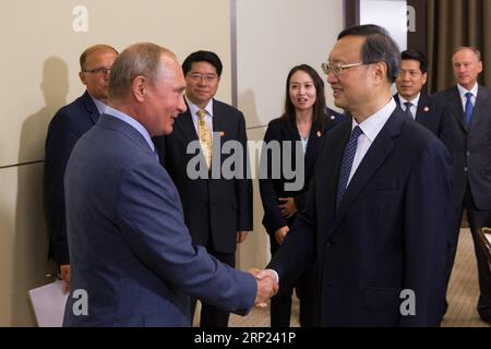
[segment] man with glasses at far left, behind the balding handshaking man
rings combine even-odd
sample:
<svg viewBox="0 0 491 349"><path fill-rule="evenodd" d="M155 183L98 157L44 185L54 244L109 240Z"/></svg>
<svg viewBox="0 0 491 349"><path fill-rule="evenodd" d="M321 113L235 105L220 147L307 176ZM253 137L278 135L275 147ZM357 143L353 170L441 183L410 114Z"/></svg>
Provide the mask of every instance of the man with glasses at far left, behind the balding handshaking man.
<svg viewBox="0 0 491 349"><path fill-rule="evenodd" d="M79 73L85 93L62 107L51 119L46 137L44 190L48 221L49 256L60 268L60 278L70 287L70 256L67 241L63 177L76 141L87 132L106 109L109 70L118 51L108 45L95 45L80 57Z"/></svg>

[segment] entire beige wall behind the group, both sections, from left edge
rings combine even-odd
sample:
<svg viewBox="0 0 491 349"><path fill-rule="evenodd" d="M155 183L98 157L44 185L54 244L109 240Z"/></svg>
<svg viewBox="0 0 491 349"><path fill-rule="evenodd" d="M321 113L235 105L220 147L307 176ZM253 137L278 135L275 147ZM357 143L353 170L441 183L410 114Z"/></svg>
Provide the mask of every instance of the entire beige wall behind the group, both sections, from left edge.
<svg viewBox="0 0 491 349"><path fill-rule="evenodd" d="M81 51L154 41L182 60L197 49L224 61L217 98L231 101L230 3L237 5L238 100L251 140L282 112L291 65L319 69L342 28L342 0L7 0L0 11L0 326L33 326L27 290L49 281L41 201L46 130L58 108L80 96ZM87 32L75 32L83 4ZM83 23L82 23L83 24ZM24 164L27 163L27 164ZM24 165L23 165L24 164ZM254 233L238 266L264 266L268 246L254 188Z"/></svg>

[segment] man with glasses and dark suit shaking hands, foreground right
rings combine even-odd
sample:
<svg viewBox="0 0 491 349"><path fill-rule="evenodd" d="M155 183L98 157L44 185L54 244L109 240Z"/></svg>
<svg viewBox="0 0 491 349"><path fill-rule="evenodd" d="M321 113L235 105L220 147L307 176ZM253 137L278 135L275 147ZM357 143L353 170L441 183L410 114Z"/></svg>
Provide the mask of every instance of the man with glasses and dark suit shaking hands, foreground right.
<svg viewBox="0 0 491 349"><path fill-rule="evenodd" d="M439 326L452 220L445 146L396 107L397 45L348 28L323 64L352 115L326 137L302 210L268 268L279 287L315 263L321 326Z"/></svg>

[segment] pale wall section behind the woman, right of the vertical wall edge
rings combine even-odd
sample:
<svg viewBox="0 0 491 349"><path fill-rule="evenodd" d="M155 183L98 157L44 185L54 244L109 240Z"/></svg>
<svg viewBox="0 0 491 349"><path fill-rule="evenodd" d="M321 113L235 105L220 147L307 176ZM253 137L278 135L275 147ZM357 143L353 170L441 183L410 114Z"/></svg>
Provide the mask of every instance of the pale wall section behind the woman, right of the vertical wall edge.
<svg viewBox="0 0 491 349"><path fill-rule="evenodd" d="M282 115L289 70L307 63L318 70L343 29L343 1L238 0L237 91L249 140L262 140L267 123ZM327 104L333 106L331 88ZM254 233L242 243L238 265L263 267L270 241L261 224L263 207L254 182Z"/></svg>

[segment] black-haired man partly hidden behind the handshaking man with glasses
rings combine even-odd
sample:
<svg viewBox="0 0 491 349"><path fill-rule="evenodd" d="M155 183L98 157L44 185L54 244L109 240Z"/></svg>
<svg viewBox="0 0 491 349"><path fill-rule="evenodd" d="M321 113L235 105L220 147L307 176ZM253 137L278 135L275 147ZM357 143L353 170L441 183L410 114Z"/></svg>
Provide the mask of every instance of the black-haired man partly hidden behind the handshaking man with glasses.
<svg viewBox="0 0 491 349"><path fill-rule="evenodd" d="M400 53L400 59L394 100L408 117L433 132L450 148L451 116L445 112L444 106L422 92L428 77L427 57L417 50L406 50Z"/></svg>

